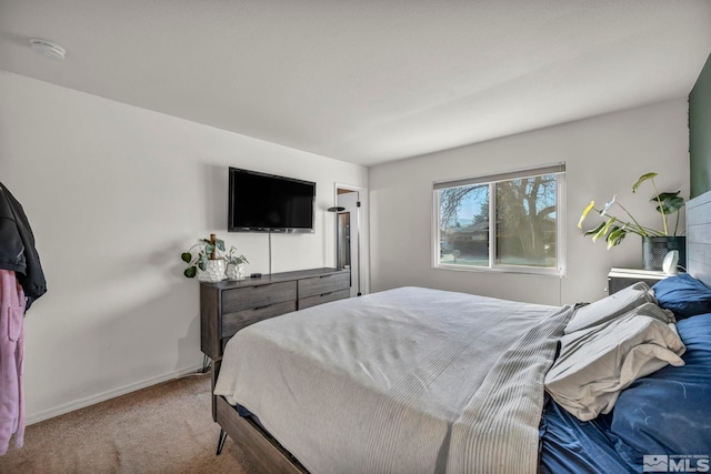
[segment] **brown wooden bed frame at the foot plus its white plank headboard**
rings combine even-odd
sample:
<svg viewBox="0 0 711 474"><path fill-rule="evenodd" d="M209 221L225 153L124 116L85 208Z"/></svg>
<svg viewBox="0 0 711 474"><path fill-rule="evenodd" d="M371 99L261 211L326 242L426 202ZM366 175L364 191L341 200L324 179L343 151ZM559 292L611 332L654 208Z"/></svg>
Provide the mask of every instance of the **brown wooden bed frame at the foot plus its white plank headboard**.
<svg viewBox="0 0 711 474"><path fill-rule="evenodd" d="M687 203L687 255L688 272L711 286L711 191ZM220 372L222 347L223 345L220 346L219 357L213 359L212 386ZM223 397L213 395L212 399L212 415L222 428L220 440L227 433L248 453L261 472L308 473L296 457L257 423L240 416Z"/></svg>

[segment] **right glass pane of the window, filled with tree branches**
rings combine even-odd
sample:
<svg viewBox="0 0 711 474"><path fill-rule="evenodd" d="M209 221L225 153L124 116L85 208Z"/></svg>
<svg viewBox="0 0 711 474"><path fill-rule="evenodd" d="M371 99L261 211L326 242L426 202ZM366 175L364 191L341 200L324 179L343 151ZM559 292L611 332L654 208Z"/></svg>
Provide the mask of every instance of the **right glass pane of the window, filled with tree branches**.
<svg viewBox="0 0 711 474"><path fill-rule="evenodd" d="M495 263L555 268L555 174L502 181L495 193Z"/></svg>

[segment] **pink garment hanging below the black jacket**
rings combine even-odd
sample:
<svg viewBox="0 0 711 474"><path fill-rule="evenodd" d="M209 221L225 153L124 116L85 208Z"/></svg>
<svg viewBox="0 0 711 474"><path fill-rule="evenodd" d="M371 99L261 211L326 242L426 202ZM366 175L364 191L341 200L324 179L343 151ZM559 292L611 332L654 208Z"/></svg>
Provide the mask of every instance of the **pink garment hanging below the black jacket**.
<svg viewBox="0 0 711 474"><path fill-rule="evenodd" d="M24 444L24 292L14 272L0 270L0 455Z"/></svg>

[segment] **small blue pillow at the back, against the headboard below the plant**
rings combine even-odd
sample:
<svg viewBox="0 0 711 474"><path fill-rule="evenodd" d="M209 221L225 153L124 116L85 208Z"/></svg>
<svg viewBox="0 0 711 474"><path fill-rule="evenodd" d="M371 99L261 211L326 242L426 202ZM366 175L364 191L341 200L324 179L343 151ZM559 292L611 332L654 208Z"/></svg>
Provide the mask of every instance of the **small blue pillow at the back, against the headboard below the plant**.
<svg viewBox="0 0 711 474"><path fill-rule="evenodd" d="M652 290L659 305L671 310L677 320L711 313L711 289L688 273L660 280Z"/></svg>

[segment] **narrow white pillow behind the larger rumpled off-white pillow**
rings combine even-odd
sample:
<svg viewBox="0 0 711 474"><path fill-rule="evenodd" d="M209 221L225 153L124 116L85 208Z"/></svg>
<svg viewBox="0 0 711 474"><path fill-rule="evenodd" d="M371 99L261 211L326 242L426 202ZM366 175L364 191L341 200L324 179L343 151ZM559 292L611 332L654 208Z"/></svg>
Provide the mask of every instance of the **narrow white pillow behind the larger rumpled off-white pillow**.
<svg viewBox="0 0 711 474"><path fill-rule="evenodd" d="M563 334L604 323L648 302L657 303L649 285L644 282L634 283L608 297L575 310Z"/></svg>

